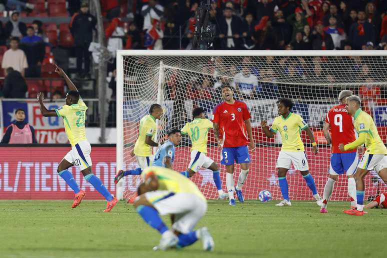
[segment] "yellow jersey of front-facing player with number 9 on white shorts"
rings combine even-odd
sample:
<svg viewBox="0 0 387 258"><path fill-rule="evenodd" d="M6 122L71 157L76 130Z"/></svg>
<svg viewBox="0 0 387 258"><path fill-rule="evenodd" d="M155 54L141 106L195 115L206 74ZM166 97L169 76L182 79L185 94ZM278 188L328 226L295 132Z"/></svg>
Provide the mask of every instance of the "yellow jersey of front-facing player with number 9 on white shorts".
<svg viewBox="0 0 387 258"><path fill-rule="evenodd" d="M302 117L292 112L286 118L282 115L275 117L270 131L276 133L279 131L282 138L283 151L304 151L303 142L301 139L301 130L308 126Z"/></svg>

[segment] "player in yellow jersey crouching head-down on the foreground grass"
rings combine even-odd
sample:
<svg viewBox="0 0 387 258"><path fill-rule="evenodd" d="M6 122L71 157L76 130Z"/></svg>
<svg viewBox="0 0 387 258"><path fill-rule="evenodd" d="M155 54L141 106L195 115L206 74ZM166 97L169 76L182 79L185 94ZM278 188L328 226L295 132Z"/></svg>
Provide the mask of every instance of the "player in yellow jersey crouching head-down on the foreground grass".
<svg viewBox="0 0 387 258"><path fill-rule="evenodd" d="M207 201L197 186L180 173L160 166L146 168L141 177L143 183L138 186L133 205L143 220L161 234L153 249L181 248L201 239L203 249L212 250L214 243L208 229L193 231L207 210ZM160 218L166 214L172 219L170 229Z"/></svg>

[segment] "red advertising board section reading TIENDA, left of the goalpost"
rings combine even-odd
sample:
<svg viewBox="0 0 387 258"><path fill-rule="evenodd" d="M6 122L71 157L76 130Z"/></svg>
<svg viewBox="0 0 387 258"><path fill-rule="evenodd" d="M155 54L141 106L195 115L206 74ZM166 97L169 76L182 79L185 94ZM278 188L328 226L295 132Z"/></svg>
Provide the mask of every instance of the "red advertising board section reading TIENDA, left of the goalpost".
<svg viewBox="0 0 387 258"><path fill-rule="evenodd" d="M71 188L57 174L68 147L0 147L0 199L73 199ZM92 171L115 195L115 147L93 146ZM86 199L103 199L78 168L68 169Z"/></svg>

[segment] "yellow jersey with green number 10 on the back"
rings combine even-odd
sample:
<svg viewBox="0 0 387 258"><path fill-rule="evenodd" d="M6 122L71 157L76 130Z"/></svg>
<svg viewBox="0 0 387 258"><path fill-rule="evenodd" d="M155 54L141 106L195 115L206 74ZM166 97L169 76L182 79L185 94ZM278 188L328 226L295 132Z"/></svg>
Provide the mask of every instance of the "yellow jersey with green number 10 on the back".
<svg viewBox="0 0 387 258"><path fill-rule="evenodd" d="M208 130L212 128L212 122L207 118L195 118L187 122L181 129L182 134L188 134L192 142L192 150L207 153Z"/></svg>

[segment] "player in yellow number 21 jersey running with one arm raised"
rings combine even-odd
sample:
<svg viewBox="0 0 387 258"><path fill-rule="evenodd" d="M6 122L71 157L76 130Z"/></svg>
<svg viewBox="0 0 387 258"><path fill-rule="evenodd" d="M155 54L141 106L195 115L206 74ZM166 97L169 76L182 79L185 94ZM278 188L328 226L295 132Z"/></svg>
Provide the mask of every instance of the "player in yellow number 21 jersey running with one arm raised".
<svg viewBox="0 0 387 258"><path fill-rule="evenodd" d="M69 91L66 94L66 103L61 108L47 110L43 104L43 93L37 95L40 104L40 111L43 116L61 116L63 117L64 129L71 144L71 150L60 161L57 172L75 193L72 208L79 205L85 192L81 190L74 177L67 170L70 166L76 165L82 172L84 179L88 181L97 191L107 200L106 208L103 210L109 212L117 203L117 199L102 184L102 181L91 172L91 146L86 139L86 130L84 121L86 117L87 106L79 96L79 92L67 74L57 65L55 71L64 78Z"/></svg>

